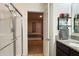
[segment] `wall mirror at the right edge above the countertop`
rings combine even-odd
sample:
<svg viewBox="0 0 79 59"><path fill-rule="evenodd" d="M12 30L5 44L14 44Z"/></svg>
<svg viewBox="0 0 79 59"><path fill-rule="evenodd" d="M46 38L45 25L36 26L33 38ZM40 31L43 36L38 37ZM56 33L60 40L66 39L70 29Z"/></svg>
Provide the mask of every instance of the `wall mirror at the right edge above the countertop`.
<svg viewBox="0 0 79 59"><path fill-rule="evenodd" d="M71 4L72 33L79 33L79 4Z"/></svg>

